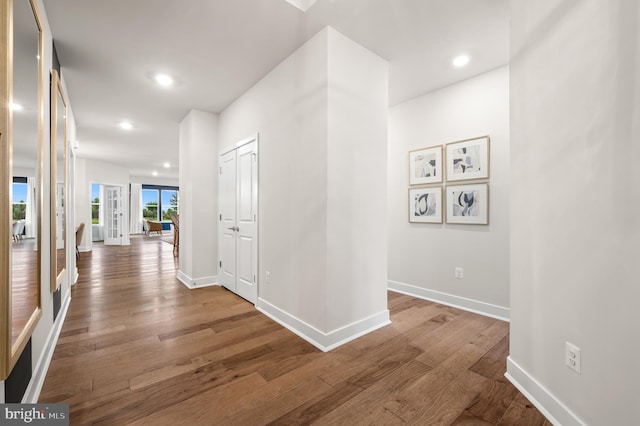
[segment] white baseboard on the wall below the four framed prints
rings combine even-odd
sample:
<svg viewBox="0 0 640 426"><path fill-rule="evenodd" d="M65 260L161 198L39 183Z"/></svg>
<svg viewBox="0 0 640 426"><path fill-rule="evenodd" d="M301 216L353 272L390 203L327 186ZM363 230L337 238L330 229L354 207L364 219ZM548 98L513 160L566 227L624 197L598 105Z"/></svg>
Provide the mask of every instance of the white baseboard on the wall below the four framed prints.
<svg viewBox="0 0 640 426"><path fill-rule="evenodd" d="M480 302L478 300L467 299L466 297L455 296L453 294L442 293L435 290L428 290L426 288L416 287L414 285L391 280L387 281L387 288L391 291L395 291L396 293L430 300L432 302L441 303L443 305L499 319L501 321L509 322L511 317L511 309L509 308Z"/></svg>

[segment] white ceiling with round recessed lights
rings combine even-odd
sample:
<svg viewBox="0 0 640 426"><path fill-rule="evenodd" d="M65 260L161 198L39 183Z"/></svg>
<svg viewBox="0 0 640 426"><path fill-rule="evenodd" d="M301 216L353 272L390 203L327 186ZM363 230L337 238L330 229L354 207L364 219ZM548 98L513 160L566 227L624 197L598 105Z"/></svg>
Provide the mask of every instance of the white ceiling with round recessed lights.
<svg viewBox="0 0 640 426"><path fill-rule="evenodd" d="M78 157L177 178L178 125L221 112L326 25L389 61L390 105L509 58L508 0L44 0ZM451 65L461 52L472 59ZM156 72L176 79L170 88ZM121 130L122 120L134 124ZM170 169L162 164L169 161Z"/></svg>

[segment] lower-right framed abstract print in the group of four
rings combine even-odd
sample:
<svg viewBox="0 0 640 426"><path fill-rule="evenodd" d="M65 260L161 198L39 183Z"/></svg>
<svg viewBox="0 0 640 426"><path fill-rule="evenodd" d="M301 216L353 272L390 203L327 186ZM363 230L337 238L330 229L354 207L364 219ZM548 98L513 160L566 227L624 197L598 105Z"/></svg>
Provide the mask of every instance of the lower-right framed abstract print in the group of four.
<svg viewBox="0 0 640 426"><path fill-rule="evenodd" d="M447 223L489 224L489 185L447 186Z"/></svg>

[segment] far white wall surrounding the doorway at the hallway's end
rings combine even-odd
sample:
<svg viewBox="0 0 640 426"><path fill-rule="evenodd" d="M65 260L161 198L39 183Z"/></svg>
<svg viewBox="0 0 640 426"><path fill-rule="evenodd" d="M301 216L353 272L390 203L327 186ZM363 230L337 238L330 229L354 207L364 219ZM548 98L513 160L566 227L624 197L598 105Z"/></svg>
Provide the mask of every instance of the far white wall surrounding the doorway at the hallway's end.
<svg viewBox="0 0 640 426"><path fill-rule="evenodd" d="M123 244L129 244L129 169L105 161L76 157L75 170L75 226L84 222L85 231L80 251L89 251L91 242L91 184L123 187Z"/></svg>

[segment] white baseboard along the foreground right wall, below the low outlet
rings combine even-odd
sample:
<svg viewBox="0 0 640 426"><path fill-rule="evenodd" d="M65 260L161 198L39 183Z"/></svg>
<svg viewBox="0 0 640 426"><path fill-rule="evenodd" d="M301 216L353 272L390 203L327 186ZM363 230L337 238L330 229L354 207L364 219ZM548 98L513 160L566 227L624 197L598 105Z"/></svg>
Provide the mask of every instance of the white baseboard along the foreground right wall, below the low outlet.
<svg viewBox="0 0 640 426"><path fill-rule="evenodd" d="M510 356L507 357L507 372L504 376L554 425L586 424Z"/></svg>

